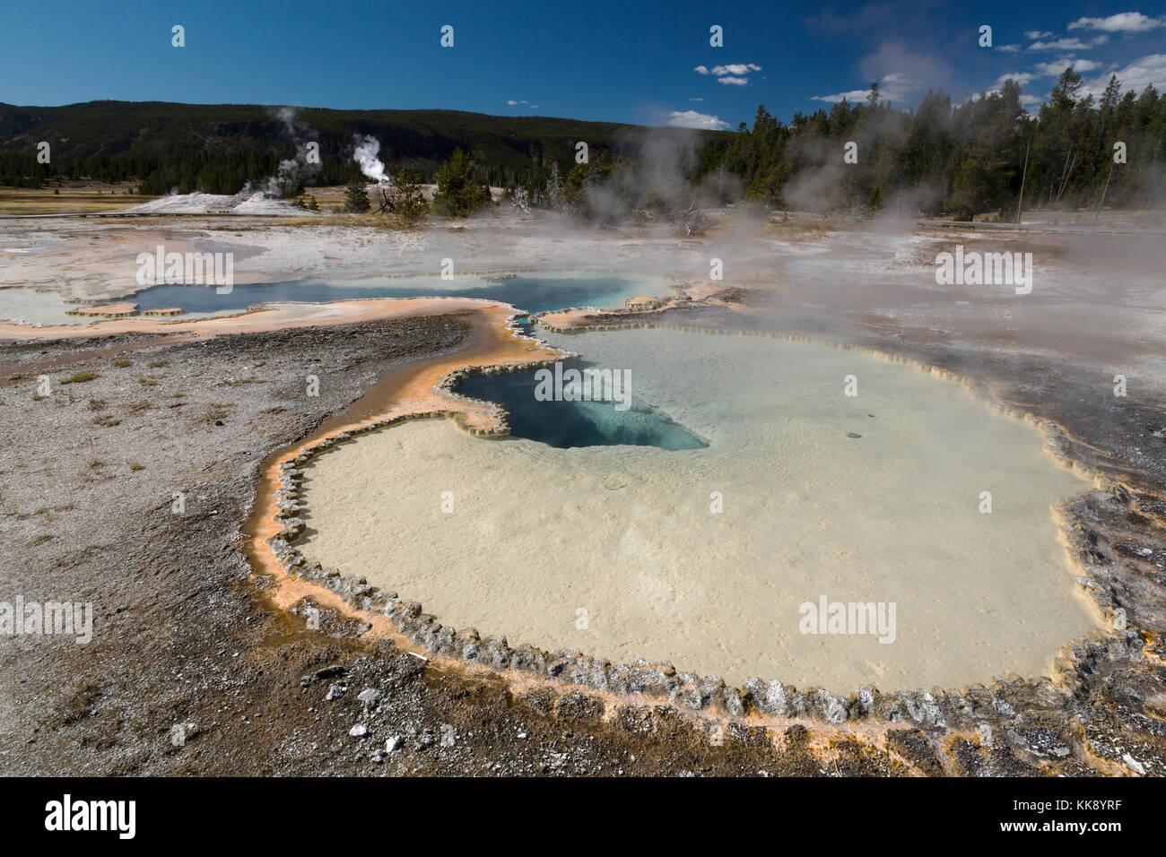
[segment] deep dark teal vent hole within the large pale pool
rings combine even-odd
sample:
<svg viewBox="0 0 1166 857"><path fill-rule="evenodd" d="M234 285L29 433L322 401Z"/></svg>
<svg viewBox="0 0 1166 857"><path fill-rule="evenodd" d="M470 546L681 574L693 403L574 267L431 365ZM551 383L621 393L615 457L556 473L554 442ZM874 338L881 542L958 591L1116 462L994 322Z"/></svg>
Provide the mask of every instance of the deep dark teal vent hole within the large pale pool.
<svg viewBox="0 0 1166 857"><path fill-rule="evenodd" d="M574 363L584 368L591 364ZM510 412L512 437L525 437L548 447L659 447L703 449L709 444L651 405L638 401L634 388L631 407L617 410L603 401L540 401L534 391L534 372L475 375L462 381L463 395L498 402Z"/></svg>

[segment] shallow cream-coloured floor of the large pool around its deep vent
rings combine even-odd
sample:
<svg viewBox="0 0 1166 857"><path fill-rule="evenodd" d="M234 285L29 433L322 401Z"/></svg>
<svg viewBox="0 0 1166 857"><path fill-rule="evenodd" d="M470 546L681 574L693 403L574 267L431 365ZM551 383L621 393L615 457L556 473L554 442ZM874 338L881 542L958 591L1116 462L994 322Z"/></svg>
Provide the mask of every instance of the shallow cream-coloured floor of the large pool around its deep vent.
<svg viewBox="0 0 1166 857"><path fill-rule="evenodd" d="M709 445L557 449L405 423L307 466L304 556L444 625L736 684L849 693L1045 675L1101 627L1051 510L1090 483L960 385L761 338L547 338L630 370L634 398ZM843 395L849 374L857 398ZM822 597L894 603L894 641L802 633L800 606Z"/></svg>

